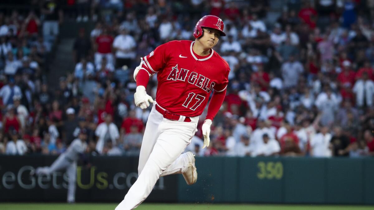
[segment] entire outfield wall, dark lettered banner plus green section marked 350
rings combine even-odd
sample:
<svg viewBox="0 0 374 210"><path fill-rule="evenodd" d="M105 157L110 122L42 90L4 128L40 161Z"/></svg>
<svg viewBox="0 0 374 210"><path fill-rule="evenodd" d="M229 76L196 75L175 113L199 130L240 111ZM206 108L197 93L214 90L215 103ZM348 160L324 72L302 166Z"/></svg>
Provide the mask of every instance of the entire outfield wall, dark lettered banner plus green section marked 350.
<svg viewBox="0 0 374 210"><path fill-rule="evenodd" d="M64 172L30 176L56 156L0 156L0 201L65 201ZM137 157L91 157L77 170L77 202L119 202ZM197 157L198 179L162 177L147 202L374 204L374 158Z"/></svg>

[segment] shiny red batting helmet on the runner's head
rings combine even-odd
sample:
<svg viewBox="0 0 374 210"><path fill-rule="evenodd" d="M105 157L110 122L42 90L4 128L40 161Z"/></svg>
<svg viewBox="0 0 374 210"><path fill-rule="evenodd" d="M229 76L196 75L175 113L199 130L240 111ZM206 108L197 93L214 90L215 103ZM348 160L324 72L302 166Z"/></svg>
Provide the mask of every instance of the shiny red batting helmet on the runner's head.
<svg viewBox="0 0 374 210"><path fill-rule="evenodd" d="M195 38L200 38L203 35L202 27L217 29L221 31L221 36L226 36L226 34L223 33L223 21L217 16L205 15L199 21L197 21L195 30L193 31L193 36Z"/></svg>

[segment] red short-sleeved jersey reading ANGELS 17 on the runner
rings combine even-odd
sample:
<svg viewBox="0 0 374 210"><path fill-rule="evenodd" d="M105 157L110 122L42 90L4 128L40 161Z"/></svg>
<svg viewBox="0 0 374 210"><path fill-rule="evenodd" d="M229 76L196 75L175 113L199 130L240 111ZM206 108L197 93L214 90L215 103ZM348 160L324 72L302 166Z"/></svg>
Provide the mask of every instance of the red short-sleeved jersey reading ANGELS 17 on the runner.
<svg viewBox="0 0 374 210"><path fill-rule="evenodd" d="M212 90L226 89L229 64L213 49L205 57L193 52L194 41L169 41L145 56L142 67L157 73L156 102L187 117L202 114Z"/></svg>

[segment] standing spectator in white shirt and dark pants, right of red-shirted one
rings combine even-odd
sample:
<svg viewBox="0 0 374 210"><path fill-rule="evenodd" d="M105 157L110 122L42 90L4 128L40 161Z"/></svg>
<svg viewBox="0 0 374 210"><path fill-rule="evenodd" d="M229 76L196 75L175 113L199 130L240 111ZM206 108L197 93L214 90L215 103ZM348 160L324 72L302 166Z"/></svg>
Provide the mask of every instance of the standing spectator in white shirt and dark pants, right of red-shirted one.
<svg viewBox="0 0 374 210"><path fill-rule="evenodd" d="M131 61L136 56L136 46L134 37L129 35L126 28L121 28L120 34L113 41L113 47L116 50L116 68L121 68L124 65L131 67Z"/></svg>

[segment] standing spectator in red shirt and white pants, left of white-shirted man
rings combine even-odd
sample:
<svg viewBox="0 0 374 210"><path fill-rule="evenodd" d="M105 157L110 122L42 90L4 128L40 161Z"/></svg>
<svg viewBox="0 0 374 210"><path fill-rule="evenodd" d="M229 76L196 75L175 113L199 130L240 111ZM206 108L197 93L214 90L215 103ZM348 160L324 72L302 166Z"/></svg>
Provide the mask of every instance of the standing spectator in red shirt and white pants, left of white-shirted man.
<svg viewBox="0 0 374 210"><path fill-rule="evenodd" d="M101 64L101 59L105 56L108 63L113 64L112 44L114 38L108 34L107 28L102 30L102 33L96 38L96 53L95 53L95 65Z"/></svg>

